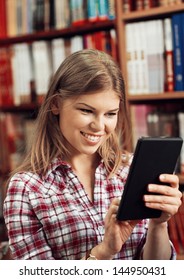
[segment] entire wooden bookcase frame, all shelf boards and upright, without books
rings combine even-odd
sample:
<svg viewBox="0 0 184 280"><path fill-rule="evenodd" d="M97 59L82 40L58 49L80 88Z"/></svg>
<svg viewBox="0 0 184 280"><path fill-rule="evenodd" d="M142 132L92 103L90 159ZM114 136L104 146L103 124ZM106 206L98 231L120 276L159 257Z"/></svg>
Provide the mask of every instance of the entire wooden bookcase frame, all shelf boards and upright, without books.
<svg viewBox="0 0 184 280"><path fill-rule="evenodd" d="M151 19L164 19L167 16L171 16L173 13L180 13L184 11L184 3L154 7L142 11L123 12L123 0L115 0L115 19L105 19L95 22L85 22L85 24L70 25L64 28L53 28L50 30L36 31L33 33L13 35L11 37L0 38L0 48L13 46L19 43L32 44L37 41L50 42L56 38L70 39L76 35L93 34L98 31L109 31L111 29L116 30L117 34L117 50L118 50L118 62L121 67L122 73L127 81L127 55L126 55L126 35L125 28L128 23L134 23L139 21L148 21ZM163 93L150 93L150 94L129 94L128 83L126 83L127 90L127 102L129 107L132 105L137 106L140 104L162 106L166 104L178 106L181 108L184 104L184 91L173 91ZM0 115L13 113L35 116L39 104L37 102L31 102L28 104L20 105L0 105ZM6 173L7 174L7 173ZM6 174L0 172L0 178L5 177ZM180 183L184 185L184 175L180 175ZM184 257L183 257L184 259Z"/></svg>

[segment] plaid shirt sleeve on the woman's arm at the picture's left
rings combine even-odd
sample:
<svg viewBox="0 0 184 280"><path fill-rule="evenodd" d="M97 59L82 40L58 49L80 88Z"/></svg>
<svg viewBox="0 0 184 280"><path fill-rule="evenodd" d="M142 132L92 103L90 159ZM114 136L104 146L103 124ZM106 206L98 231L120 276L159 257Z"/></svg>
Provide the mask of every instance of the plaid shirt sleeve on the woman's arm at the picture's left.
<svg viewBox="0 0 184 280"><path fill-rule="evenodd" d="M31 206L26 183L10 181L4 202L4 218L13 259L53 260L42 224Z"/></svg>

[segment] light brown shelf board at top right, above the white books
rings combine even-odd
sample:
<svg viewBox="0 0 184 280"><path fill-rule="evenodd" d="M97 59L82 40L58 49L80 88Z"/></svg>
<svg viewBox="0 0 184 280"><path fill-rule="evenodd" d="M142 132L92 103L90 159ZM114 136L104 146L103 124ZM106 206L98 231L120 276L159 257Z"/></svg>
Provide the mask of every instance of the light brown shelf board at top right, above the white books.
<svg viewBox="0 0 184 280"><path fill-rule="evenodd" d="M183 12L184 4L175 4L164 7L155 7L144 11L132 11L130 13L122 13L121 19L126 22L138 21L142 19L159 18L171 15L177 12Z"/></svg>

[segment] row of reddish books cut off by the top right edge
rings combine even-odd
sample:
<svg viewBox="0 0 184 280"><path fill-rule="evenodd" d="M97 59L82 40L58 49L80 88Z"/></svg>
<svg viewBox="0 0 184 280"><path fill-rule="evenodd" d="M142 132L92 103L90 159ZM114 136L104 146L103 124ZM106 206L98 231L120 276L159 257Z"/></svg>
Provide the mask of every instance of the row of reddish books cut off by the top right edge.
<svg viewBox="0 0 184 280"><path fill-rule="evenodd" d="M123 0L123 12L142 11L154 7L181 4L182 0Z"/></svg>

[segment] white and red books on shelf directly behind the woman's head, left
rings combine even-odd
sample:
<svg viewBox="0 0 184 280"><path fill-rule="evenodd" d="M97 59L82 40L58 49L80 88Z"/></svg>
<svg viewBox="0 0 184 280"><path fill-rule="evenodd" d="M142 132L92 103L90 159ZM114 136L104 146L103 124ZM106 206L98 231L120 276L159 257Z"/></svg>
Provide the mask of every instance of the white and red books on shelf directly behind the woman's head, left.
<svg viewBox="0 0 184 280"><path fill-rule="evenodd" d="M84 48L103 50L117 60L115 30L0 48L0 107L30 103L33 84L41 102L60 63Z"/></svg>

